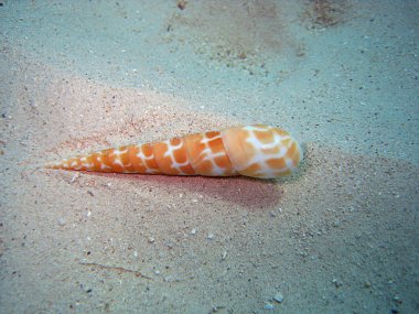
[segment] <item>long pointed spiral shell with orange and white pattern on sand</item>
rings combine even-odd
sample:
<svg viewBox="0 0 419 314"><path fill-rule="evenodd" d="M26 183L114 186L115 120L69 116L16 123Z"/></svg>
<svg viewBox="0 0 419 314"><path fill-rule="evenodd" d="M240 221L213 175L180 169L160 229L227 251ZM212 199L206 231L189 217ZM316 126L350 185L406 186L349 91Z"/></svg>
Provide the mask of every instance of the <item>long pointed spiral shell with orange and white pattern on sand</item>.
<svg viewBox="0 0 419 314"><path fill-rule="evenodd" d="M107 149L46 167L77 171L271 178L302 160L298 142L278 128L254 124Z"/></svg>

